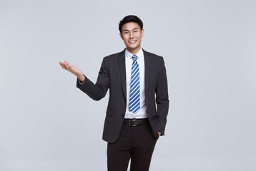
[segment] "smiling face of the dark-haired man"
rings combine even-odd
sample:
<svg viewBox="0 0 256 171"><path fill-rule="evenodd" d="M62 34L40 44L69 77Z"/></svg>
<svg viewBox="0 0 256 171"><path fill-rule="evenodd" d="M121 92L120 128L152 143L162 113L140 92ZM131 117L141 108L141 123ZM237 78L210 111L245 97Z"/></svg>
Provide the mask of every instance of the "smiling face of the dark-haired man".
<svg viewBox="0 0 256 171"><path fill-rule="evenodd" d="M136 54L141 48L140 43L142 42L142 36L144 35L144 29L141 30L139 24L129 22L122 26L122 33L120 33L124 44L127 46L127 50Z"/></svg>

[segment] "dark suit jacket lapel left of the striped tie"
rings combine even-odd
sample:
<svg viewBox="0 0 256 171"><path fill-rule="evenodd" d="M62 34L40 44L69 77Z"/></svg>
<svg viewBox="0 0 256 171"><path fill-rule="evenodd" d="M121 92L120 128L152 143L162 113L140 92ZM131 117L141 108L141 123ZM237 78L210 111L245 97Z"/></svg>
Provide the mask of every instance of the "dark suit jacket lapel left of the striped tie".
<svg viewBox="0 0 256 171"><path fill-rule="evenodd" d="M119 72L121 76L121 83L122 83L122 90L124 93L124 98L127 100L127 76L126 76L126 69L125 69L125 49L118 56L118 63L119 63Z"/></svg>

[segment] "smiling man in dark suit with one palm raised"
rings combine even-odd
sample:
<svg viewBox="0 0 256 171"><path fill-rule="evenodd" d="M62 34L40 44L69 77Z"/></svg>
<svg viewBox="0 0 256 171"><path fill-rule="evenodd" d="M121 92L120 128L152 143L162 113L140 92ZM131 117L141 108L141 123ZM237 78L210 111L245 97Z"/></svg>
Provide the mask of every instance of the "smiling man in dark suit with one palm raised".
<svg viewBox="0 0 256 171"><path fill-rule="evenodd" d="M67 61L59 63L77 76L77 88L90 98L100 100L109 89L103 131L103 140L108 142L108 170L127 170L131 159L132 171L146 171L167 123L166 70L162 57L142 49L144 29L137 16L125 16L119 31L127 47L103 59L97 83Z"/></svg>

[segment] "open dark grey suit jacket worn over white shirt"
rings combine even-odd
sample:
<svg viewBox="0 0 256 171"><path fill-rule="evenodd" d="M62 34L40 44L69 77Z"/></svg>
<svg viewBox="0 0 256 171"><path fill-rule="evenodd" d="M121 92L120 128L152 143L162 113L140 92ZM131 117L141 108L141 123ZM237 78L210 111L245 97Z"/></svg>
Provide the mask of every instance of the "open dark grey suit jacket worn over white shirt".
<svg viewBox="0 0 256 171"><path fill-rule="evenodd" d="M97 83L92 83L86 76L82 85L77 81L77 88L94 100L104 98L109 89L109 103L103 130L103 140L107 142L115 142L119 137L126 106L129 103L124 52L125 50L103 58ZM147 116L152 133L158 137L157 132L164 134L169 109L166 69L161 56L144 50L143 52Z"/></svg>

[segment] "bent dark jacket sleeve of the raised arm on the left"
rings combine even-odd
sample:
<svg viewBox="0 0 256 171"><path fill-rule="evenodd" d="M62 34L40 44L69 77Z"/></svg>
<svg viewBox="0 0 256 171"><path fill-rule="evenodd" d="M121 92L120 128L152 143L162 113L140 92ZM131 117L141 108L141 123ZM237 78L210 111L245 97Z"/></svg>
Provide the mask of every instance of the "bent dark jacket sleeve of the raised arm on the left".
<svg viewBox="0 0 256 171"><path fill-rule="evenodd" d="M93 100L101 100L109 89L109 66L106 58L103 58L102 66L99 70L97 82L94 84L86 76L84 76L84 83L79 83L77 78L77 88L87 93Z"/></svg>

